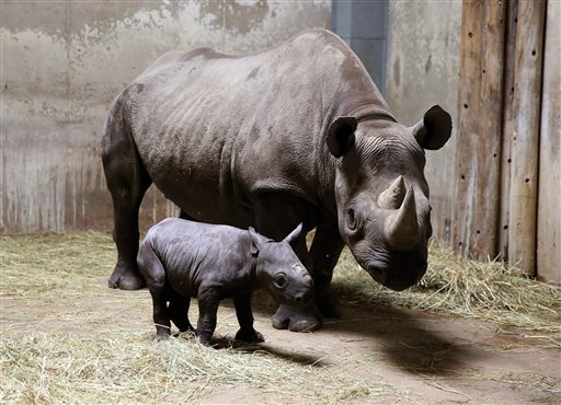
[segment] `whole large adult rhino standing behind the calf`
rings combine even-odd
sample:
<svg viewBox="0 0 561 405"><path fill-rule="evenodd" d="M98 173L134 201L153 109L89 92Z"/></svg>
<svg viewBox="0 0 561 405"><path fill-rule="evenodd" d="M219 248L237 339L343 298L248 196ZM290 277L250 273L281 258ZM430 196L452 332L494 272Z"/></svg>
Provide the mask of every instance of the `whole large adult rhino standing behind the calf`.
<svg viewBox="0 0 561 405"><path fill-rule="evenodd" d="M438 106L414 127L397 123L358 58L324 30L244 57L167 54L123 91L105 123L118 250L110 286L142 286L137 217L153 182L186 219L253 225L275 240L304 222L295 251L313 277L316 305L280 305L277 328L316 328L321 314L339 315L330 284L345 244L375 280L403 290L426 270L424 149L442 148L450 131Z"/></svg>

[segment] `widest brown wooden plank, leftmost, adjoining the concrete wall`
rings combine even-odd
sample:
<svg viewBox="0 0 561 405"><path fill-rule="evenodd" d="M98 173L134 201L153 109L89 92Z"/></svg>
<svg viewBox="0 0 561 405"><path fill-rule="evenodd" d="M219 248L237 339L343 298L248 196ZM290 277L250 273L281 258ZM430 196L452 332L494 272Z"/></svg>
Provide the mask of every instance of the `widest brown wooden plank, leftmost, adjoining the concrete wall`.
<svg viewBox="0 0 561 405"><path fill-rule="evenodd" d="M505 10L496 0L462 10L453 243L478 259L496 256Z"/></svg>

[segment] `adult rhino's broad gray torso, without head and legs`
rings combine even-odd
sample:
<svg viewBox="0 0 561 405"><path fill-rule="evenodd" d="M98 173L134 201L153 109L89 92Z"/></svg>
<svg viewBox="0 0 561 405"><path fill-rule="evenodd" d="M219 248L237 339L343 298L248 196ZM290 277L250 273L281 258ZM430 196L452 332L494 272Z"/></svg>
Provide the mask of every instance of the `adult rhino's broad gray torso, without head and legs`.
<svg viewBox="0 0 561 405"><path fill-rule="evenodd" d="M351 78L350 62L359 65ZM209 48L165 55L128 89L129 126L148 173L171 200L197 220L245 227L257 193L319 204L321 137L345 114L344 93L354 86L368 100L379 95L360 68L323 30L244 57Z"/></svg>

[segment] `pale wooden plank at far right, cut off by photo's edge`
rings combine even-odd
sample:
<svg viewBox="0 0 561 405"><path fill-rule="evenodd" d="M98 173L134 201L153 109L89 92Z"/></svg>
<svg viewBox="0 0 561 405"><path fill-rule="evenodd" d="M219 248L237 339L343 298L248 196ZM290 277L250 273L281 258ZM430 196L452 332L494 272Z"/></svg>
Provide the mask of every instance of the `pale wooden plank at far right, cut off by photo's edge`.
<svg viewBox="0 0 561 405"><path fill-rule="evenodd" d="M561 285L561 2L549 0L539 142L537 275Z"/></svg>

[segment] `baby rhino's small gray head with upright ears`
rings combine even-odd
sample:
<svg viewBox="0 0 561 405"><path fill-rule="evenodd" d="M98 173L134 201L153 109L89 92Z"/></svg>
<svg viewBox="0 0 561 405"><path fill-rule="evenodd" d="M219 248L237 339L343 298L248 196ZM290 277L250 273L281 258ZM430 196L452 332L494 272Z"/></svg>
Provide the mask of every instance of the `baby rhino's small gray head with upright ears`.
<svg viewBox="0 0 561 405"><path fill-rule="evenodd" d="M304 306L313 299L313 280L291 247L300 236L300 223L280 242L267 239L250 228L251 254L257 256L257 279L275 301Z"/></svg>

